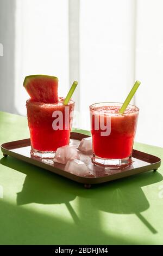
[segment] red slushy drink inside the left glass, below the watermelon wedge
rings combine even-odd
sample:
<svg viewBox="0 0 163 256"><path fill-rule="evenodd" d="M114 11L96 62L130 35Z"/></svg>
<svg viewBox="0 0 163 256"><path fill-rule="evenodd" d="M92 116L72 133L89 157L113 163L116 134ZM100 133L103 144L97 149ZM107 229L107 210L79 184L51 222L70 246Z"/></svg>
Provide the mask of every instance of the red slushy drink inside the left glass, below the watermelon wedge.
<svg viewBox="0 0 163 256"><path fill-rule="evenodd" d="M74 102L71 100L66 106L63 102L64 98L59 98L59 102L55 104L27 100L30 142L35 150L56 151L58 147L69 144ZM65 107L69 108L68 116L65 114ZM62 112L63 129L53 129L55 117L52 117L52 114L54 111ZM68 129L65 127L65 118L68 118Z"/></svg>

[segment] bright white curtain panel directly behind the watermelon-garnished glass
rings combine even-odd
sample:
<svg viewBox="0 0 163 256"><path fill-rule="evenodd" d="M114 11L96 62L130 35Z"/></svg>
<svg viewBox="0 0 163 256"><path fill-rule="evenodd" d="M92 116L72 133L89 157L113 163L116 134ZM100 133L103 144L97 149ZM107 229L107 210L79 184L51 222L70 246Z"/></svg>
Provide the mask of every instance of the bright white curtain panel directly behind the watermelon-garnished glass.
<svg viewBox="0 0 163 256"><path fill-rule="evenodd" d="M15 107L26 115L26 75L59 78L59 94L69 88L68 1L16 0Z"/></svg>

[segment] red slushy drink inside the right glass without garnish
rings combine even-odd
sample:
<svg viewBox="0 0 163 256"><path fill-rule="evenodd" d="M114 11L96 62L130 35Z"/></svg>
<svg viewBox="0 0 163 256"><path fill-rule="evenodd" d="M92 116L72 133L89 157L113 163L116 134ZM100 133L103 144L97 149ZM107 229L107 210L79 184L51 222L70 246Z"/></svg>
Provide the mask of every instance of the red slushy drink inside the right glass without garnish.
<svg viewBox="0 0 163 256"><path fill-rule="evenodd" d="M99 106L91 110L91 114L93 114L91 130L93 152L98 157L123 159L131 155L139 111L133 106L133 108L127 108L124 114L120 115L118 114L119 109L120 106ZM107 118L111 118L111 133L108 136L101 135L104 130L100 128L100 115L103 115L105 125ZM99 130L95 129L95 120L99 120Z"/></svg>

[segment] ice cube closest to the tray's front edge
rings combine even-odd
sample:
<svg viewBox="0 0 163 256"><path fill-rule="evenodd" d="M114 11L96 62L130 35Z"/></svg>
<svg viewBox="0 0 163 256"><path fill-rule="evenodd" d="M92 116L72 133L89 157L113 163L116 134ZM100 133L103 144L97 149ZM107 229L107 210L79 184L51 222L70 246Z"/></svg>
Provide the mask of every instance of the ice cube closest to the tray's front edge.
<svg viewBox="0 0 163 256"><path fill-rule="evenodd" d="M86 164L78 159L69 160L65 166L65 171L78 176L90 175Z"/></svg>

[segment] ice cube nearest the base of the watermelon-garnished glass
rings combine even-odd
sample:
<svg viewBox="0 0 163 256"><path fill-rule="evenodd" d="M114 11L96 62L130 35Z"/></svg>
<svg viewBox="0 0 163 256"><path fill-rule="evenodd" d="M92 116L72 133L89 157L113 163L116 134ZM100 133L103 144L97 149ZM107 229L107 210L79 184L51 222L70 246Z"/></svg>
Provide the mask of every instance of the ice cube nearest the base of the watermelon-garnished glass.
<svg viewBox="0 0 163 256"><path fill-rule="evenodd" d="M72 146L58 147L55 152L54 162L66 164L68 160L80 159L78 150Z"/></svg>

